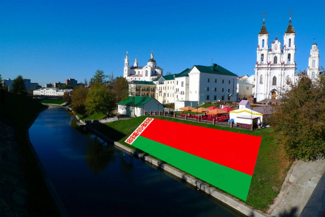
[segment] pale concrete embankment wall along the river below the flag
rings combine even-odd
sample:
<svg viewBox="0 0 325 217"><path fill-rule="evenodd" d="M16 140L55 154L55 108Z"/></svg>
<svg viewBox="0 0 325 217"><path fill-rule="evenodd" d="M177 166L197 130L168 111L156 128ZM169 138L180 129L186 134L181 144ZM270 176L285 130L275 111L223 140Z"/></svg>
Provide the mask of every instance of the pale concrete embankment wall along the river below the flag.
<svg viewBox="0 0 325 217"><path fill-rule="evenodd" d="M86 125L86 128L90 131L92 131L94 134L96 134L98 137L100 137L101 139L113 143L114 145L126 150L127 152L129 152L130 154L133 154L141 159L146 160L147 162L160 167L162 169L164 169L165 171L173 174L174 176L183 179L184 181L188 182L189 184L195 186L196 188L200 189L201 191L205 192L206 194L216 198L218 201L224 203L225 205L231 207L232 209L234 209L235 211L237 211L240 214L244 214L246 216L254 216L254 217L269 217L268 214L264 214L259 210L253 209L249 206L247 206L246 204L242 203L241 201L227 195L224 194L220 191L218 191L215 188L212 188L210 186L208 186L206 183L192 177L189 174L183 173L182 171L167 165L166 163L163 163L161 161L158 161L152 157L146 156L142 153L139 153L133 149L131 149L130 147L126 146L126 145L122 145L119 142L116 142L114 140L112 140L111 138L108 138L107 136L105 136L104 134L96 131L95 129L93 129L91 127L91 125Z"/></svg>

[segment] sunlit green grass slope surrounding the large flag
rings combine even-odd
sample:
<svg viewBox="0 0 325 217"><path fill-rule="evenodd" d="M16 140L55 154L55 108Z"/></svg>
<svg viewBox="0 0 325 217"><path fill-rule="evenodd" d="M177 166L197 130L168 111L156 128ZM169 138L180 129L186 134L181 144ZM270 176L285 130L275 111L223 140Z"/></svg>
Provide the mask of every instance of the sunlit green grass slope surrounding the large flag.
<svg viewBox="0 0 325 217"><path fill-rule="evenodd" d="M123 145L143 152L124 141L144 121L145 118L146 116L142 116L130 120L99 124L95 126L95 129ZM267 207L272 204L273 199L278 195L279 190L281 189L286 173L292 162L286 159L284 149L275 143L276 135L273 133L271 128L248 131L168 117L155 116L154 118L262 137L248 198L246 202L243 202L261 211L265 211ZM229 143L238 142L240 141L231 141L231 138L229 139Z"/></svg>

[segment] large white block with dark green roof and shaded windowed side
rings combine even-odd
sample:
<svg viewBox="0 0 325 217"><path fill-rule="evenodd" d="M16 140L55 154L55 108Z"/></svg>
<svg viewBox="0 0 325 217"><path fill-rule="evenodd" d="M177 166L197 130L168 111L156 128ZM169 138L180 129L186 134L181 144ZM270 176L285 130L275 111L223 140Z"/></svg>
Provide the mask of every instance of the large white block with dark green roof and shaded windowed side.
<svg viewBox="0 0 325 217"><path fill-rule="evenodd" d="M194 66L189 72L189 101L236 101L238 75L213 64Z"/></svg>

